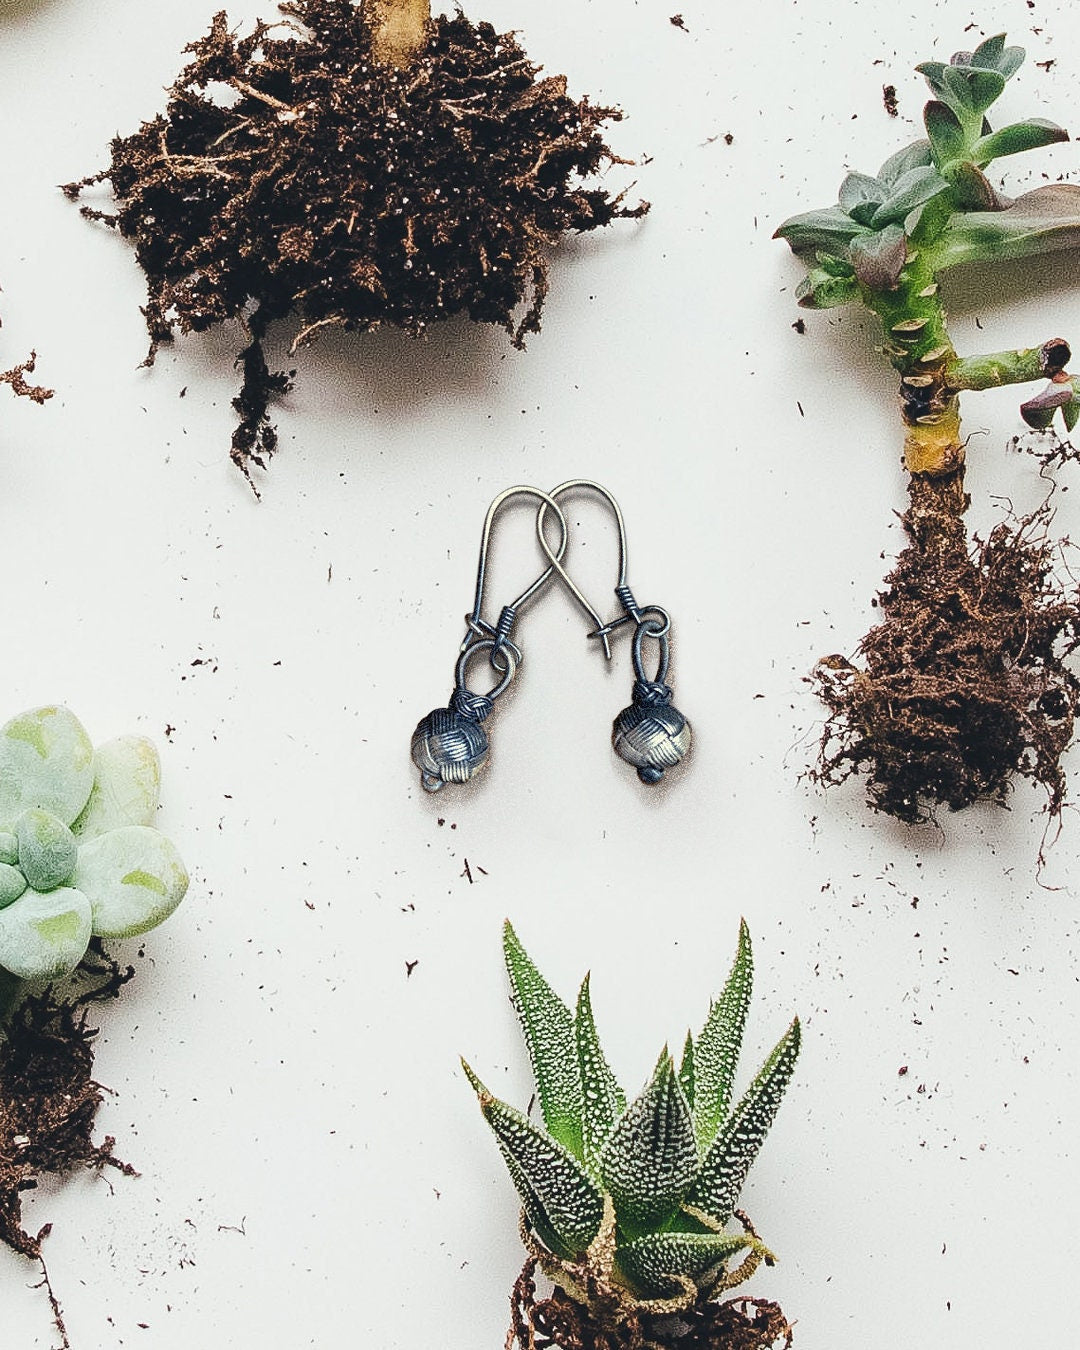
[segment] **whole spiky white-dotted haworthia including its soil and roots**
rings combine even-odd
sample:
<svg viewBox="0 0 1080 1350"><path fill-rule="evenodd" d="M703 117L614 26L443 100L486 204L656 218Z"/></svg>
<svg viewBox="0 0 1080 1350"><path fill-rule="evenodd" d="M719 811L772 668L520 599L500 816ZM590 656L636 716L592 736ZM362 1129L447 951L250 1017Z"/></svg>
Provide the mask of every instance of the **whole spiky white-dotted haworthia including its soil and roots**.
<svg viewBox="0 0 1080 1350"><path fill-rule="evenodd" d="M801 1034L796 1018L732 1106L752 984L747 925L702 1031L687 1035L678 1066L664 1048L629 1103L597 1035L589 976L571 1013L509 923L504 952L543 1126L464 1071L522 1204L529 1256L510 1300L508 1350L790 1345L775 1303L721 1297L775 1260L737 1208L738 1192ZM729 1231L732 1220L740 1231ZM547 1297L537 1270L554 1285Z"/></svg>

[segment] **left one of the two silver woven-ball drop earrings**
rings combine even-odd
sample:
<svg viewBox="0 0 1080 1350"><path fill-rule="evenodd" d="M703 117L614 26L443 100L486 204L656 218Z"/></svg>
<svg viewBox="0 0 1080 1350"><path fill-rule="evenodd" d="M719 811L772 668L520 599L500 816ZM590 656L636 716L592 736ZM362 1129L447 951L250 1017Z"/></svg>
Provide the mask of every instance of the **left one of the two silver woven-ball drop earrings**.
<svg viewBox="0 0 1080 1350"><path fill-rule="evenodd" d="M559 521L562 537L556 551L549 549L547 540L544 540L544 552L549 559L548 566L517 599L504 605L498 620L490 624L483 618L487 552L495 517L501 506L513 497L535 497L545 513L551 508ZM473 612L466 614L466 634L454 668L454 691L448 705L428 713L413 732L412 757L420 770L420 782L428 792L437 792L444 783L466 783L487 763L487 733L481 722L494 707L495 699L510 687L522 662L521 648L510 641L510 633L521 608L548 585L556 570L562 570L566 545L566 517L555 498L539 487L508 487L487 508L477 563L477 594ZM487 652L487 663L498 676L495 684L486 694L475 693L467 683L468 667L473 659L482 652Z"/></svg>

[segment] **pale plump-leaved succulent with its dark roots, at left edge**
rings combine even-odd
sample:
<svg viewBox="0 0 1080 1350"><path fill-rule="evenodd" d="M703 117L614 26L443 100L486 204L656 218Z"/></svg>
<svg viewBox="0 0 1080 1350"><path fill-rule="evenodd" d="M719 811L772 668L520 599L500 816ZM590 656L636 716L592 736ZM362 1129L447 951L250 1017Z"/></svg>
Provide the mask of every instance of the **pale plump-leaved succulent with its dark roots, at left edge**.
<svg viewBox="0 0 1080 1350"><path fill-rule="evenodd" d="M134 975L103 940L155 927L188 888L174 845L151 825L159 783L150 741L120 736L94 749L65 707L0 726L0 1241L38 1261L49 1224L26 1231L22 1196L40 1176L131 1172L112 1138L93 1141L101 1088L86 1004ZM46 1287L66 1345L47 1274Z"/></svg>

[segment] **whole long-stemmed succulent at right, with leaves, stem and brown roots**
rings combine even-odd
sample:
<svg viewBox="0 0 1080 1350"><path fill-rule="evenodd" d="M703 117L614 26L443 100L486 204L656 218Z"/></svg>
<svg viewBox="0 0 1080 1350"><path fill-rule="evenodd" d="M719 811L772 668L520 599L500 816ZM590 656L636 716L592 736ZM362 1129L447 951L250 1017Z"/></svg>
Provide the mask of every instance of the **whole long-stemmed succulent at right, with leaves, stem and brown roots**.
<svg viewBox="0 0 1080 1350"><path fill-rule="evenodd" d="M986 173L1003 155L1068 139L1042 119L991 127L987 112L1023 57L998 35L949 63L919 65L933 93L926 138L875 176L849 173L837 205L776 231L810 266L799 302L865 305L900 377L909 543L861 660L828 656L814 672L829 710L815 776L828 784L863 771L871 805L907 822L941 805L1003 801L1015 776L1041 784L1060 814L1060 760L1080 707L1065 666L1080 645L1080 609L1057 575L1048 506L986 540L969 540L963 520L961 394L1042 379L1025 420L1045 429L1060 413L1072 429L1080 401L1068 343L961 356L940 290L960 265L1080 247L1080 188L1049 184L1011 200Z"/></svg>

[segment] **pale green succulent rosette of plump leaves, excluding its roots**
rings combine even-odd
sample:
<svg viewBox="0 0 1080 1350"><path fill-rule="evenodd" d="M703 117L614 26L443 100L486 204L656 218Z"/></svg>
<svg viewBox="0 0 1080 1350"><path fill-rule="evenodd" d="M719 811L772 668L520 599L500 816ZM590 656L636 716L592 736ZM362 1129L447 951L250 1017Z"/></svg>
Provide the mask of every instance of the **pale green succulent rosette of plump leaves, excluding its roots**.
<svg viewBox="0 0 1080 1350"><path fill-rule="evenodd" d="M154 745L97 749L66 707L0 726L0 968L18 980L76 969L92 937L134 937L184 899L188 872L150 824Z"/></svg>

